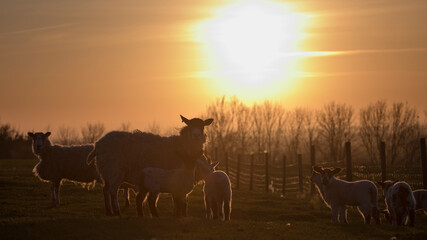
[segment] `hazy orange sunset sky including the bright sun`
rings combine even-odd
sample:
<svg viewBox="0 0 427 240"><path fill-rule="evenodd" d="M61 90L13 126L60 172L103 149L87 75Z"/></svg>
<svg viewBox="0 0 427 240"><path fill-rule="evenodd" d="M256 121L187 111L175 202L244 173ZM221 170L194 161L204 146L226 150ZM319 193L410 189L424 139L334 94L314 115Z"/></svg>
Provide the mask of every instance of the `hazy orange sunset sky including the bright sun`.
<svg viewBox="0 0 427 240"><path fill-rule="evenodd" d="M427 2L2 0L0 123L181 126L216 98L427 110Z"/></svg>

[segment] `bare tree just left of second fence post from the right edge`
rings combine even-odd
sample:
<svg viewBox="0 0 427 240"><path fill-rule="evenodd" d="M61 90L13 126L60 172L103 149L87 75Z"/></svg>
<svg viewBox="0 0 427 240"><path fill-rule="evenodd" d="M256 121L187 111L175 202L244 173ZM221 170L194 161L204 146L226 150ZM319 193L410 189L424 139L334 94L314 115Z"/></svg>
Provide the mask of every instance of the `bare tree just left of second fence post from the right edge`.
<svg viewBox="0 0 427 240"><path fill-rule="evenodd" d="M359 136L368 152L371 164L378 163L380 143L385 140L389 131L387 103L378 101L360 109Z"/></svg>

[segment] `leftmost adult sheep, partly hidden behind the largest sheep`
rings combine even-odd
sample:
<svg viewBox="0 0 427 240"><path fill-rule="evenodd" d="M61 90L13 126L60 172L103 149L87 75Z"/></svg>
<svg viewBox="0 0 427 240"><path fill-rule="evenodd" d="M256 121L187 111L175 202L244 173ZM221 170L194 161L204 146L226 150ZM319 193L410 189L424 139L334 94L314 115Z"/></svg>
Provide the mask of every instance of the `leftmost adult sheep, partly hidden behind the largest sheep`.
<svg viewBox="0 0 427 240"><path fill-rule="evenodd" d="M93 150L93 145L52 145L49 140L50 135L51 132L28 132L28 136L33 141L33 154L39 159L33 173L40 180L51 183L51 206L56 207L59 205L62 180L94 186L96 182L101 181L101 178L94 164L86 164L86 157ZM129 189L135 189L135 187L122 185L120 188L124 191L126 207L129 207Z"/></svg>

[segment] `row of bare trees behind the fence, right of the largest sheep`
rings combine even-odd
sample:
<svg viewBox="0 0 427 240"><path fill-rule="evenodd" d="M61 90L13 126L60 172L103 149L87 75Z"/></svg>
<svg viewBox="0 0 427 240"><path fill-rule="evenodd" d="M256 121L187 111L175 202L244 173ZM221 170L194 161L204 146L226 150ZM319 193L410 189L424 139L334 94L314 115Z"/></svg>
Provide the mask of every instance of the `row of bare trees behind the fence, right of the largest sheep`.
<svg viewBox="0 0 427 240"><path fill-rule="evenodd" d="M355 161L378 164L384 141L390 164L413 164L419 160L419 139L427 130L426 111L421 115L408 103L384 100L356 111L345 103L287 109L278 102L247 105L224 96L207 107L205 116L215 119L206 129L210 156L268 151L273 162L283 154L290 161L302 154L308 161L312 145L321 161L342 161L345 142L350 141Z"/></svg>

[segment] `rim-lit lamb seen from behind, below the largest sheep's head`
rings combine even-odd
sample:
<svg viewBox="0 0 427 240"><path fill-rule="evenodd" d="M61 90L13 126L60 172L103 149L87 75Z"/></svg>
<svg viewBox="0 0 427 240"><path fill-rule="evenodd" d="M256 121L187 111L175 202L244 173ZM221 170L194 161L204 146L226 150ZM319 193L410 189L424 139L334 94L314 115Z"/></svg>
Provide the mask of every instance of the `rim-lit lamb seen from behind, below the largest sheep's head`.
<svg viewBox="0 0 427 240"><path fill-rule="evenodd" d="M205 182L205 211L207 219L229 221L231 214L232 191L228 175L223 171L216 171L217 163L203 163L201 176Z"/></svg>

